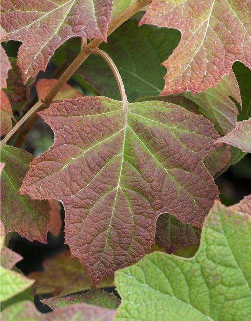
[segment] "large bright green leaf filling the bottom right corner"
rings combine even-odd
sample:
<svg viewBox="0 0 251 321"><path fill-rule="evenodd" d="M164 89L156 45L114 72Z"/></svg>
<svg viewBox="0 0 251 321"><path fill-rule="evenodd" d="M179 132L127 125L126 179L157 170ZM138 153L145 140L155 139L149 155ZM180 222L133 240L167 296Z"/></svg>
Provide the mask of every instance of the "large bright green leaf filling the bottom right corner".
<svg viewBox="0 0 251 321"><path fill-rule="evenodd" d="M155 252L116 272L116 320L249 321L250 247L250 215L216 201L193 258Z"/></svg>

